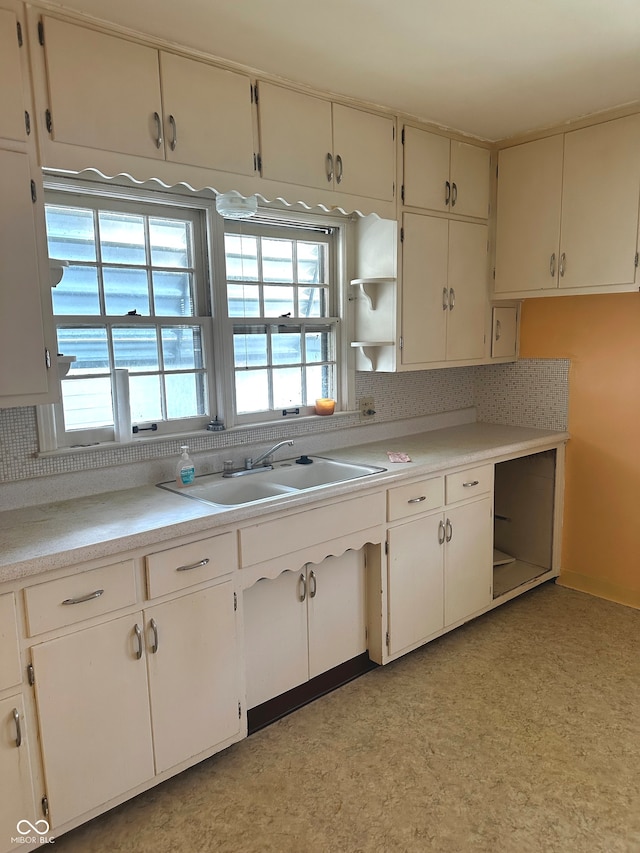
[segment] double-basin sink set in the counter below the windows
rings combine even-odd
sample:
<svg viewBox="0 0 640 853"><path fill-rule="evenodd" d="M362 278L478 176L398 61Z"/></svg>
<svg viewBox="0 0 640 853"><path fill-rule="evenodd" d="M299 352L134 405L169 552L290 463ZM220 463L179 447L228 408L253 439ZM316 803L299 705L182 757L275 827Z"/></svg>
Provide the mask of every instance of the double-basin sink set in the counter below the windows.
<svg viewBox="0 0 640 853"><path fill-rule="evenodd" d="M303 465L294 461L280 462L273 468L259 468L240 477L203 474L196 477L192 485L184 487L175 482L158 483L158 486L215 506L239 506L386 471L386 468L375 465L358 465L318 456L305 458L311 462Z"/></svg>

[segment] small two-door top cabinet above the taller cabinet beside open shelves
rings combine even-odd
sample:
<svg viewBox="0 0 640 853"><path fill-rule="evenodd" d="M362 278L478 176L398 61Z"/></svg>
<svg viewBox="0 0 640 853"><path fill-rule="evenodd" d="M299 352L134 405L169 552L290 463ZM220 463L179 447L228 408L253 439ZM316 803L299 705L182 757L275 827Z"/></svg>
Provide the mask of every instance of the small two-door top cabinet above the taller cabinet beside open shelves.
<svg viewBox="0 0 640 853"><path fill-rule="evenodd" d="M409 125L403 130L404 204L486 219L488 149Z"/></svg>

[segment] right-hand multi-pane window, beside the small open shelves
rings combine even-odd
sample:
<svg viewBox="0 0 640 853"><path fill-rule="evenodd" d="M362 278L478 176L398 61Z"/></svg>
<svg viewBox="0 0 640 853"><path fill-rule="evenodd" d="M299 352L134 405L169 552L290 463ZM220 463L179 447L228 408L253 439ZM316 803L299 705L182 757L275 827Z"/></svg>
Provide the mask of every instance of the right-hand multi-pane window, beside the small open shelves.
<svg viewBox="0 0 640 853"><path fill-rule="evenodd" d="M240 422L313 411L337 396L338 289L331 228L225 225L227 319Z"/></svg>

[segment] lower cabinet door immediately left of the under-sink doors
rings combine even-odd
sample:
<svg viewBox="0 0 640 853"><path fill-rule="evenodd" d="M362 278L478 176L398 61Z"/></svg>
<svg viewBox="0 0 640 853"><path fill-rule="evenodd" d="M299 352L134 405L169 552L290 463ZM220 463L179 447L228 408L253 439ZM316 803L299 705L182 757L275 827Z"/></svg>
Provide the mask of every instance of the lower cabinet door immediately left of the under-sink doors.
<svg viewBox="0 0 640 853"><path fill-rule="evenodd" d="M156 773L240 730L233 592L226 581L145 611Z"/></svg>

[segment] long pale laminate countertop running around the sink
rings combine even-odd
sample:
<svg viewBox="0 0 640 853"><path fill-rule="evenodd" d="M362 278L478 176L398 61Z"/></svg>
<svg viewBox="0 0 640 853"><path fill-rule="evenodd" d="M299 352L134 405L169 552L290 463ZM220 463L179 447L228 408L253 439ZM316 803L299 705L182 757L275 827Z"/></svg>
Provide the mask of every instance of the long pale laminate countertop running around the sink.
<svg viewBox="0 0 640 853"><path fill-rule="evenodd" d="M0 513L0 582L27 578L133 548L162 546L178 536L215 532L318 500L349 496L397 480L493 459L537 452L569 433L472 423L332 450L326 454L387 469L357 480L238 507L215 507L156 486L106 492ZM391 463L387 451L411 462ZM277 464L277 463L276 463ZM258 475L259 476L259 475Z"/></svg>

